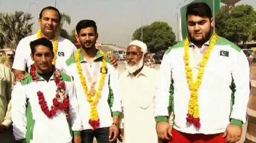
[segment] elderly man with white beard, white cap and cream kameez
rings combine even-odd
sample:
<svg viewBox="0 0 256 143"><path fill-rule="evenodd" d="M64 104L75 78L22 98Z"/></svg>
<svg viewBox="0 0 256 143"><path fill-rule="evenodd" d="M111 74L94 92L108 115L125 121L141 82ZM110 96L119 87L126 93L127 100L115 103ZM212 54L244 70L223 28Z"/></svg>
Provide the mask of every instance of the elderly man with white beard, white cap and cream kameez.
<svg viewBox="0 0 256 143"><path fill-rule="evenodd" d="M126 51L126 71L119 77L122 89L123 142L157 143L154 119L154 98L158 72L143 64L147 45L132 41Z"/></svg>

